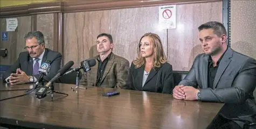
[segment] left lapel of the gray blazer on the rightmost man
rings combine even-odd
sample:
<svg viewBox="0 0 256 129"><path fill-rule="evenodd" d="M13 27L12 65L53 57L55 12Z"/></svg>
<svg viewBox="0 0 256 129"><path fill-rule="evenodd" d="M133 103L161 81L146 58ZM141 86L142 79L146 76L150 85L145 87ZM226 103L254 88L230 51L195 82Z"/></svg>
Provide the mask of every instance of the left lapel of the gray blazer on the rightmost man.
<svg viewBox="0 0 256 129"><path fill-rule="evenodd" d="M202 74L202 78L203 78L203 85L202 85L202 88L207 88L208 87L208 66L209 66L209 55L206 55L204 57L204 60L203 60L203 74Z"/></svg>

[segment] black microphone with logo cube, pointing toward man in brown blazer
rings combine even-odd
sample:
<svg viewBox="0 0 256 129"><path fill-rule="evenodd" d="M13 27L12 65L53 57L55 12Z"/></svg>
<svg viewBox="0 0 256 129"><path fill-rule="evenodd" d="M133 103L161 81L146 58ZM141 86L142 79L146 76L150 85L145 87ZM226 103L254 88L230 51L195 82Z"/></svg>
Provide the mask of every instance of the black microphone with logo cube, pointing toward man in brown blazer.
<svg viewBox="0 0 256 129"><path fill-rule="evenodd" d="M78 71L80 69L83 69L84 71L89 71L89 70L91 70L92 66L95 66L95 64L96 64L95 59L84 60L84 61L81 62L81 66L67 71L64 75L73 73L73 72Z"/></svg>

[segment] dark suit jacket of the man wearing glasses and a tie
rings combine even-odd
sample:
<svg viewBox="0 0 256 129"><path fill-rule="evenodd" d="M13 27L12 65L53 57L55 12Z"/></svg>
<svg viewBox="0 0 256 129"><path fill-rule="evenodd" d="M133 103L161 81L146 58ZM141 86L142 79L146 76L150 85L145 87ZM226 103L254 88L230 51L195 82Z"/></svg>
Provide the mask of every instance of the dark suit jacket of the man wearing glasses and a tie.
<svg viewBox="0 0 256 129"><path fill-rule="evenodd" d="M44 56L41 63L46 61L51 61L51 69L47 76L44 76L44 80L50 81L52 77L54 77L57 71L60 69L62 55L58 52L54 52L51 49L45 48ZM18 60L12 64L12 66L4 73L3 78L7 78L11 75L11 73L16 73L16 69L20 68L25 71L26 75L33 75L33 58L30 57L29 52L21 52L19 54ZM38 75L34 75L34 77L38 78Z"/></svg>

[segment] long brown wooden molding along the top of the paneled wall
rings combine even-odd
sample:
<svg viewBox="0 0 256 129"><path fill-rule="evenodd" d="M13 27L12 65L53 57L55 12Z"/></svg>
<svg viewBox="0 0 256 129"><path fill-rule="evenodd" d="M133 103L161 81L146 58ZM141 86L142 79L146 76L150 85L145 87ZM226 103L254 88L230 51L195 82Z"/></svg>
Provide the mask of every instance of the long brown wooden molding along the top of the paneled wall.
<svg viewBox="0 0 256 129"><path fill-rule="evenodd" d="M0 8L0 17L16 17L27 16L41 13L56 12L82 12L124 8L139 8L142 6L167 5L167 4L188 4L202 2L216 2L221 0L164 0L164 1L134 1L134 0L102 0L102 1L57 1L57 2L41 2L26 5L8 6Z"/></svg>

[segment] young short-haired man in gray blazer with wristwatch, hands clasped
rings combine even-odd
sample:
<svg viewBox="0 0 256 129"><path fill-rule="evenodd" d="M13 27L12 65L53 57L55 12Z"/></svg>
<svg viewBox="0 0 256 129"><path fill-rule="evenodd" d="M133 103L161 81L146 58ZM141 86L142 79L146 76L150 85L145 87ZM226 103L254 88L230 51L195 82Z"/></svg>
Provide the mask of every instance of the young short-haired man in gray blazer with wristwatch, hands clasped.
<svg viewBox="0 0 256 129"><path fill-rule="evenodd" d="M225 103L208 128L243 128L235 119L255 122L256 61L227 47L223 24L210 21L198 30L204 53L174 88L174 98Z"/></svg>

